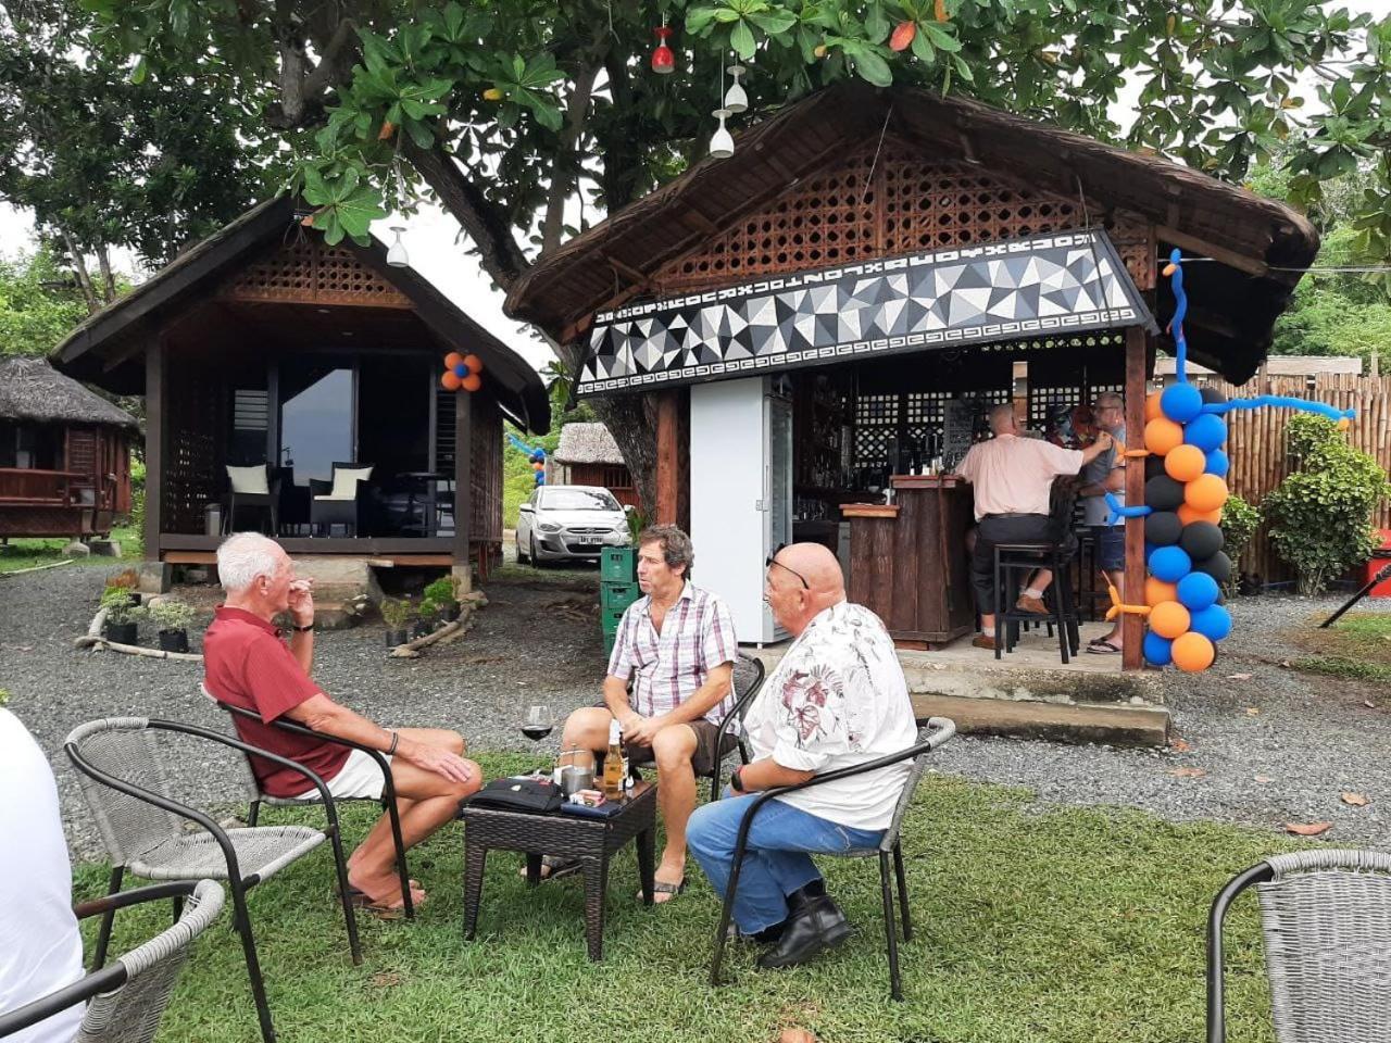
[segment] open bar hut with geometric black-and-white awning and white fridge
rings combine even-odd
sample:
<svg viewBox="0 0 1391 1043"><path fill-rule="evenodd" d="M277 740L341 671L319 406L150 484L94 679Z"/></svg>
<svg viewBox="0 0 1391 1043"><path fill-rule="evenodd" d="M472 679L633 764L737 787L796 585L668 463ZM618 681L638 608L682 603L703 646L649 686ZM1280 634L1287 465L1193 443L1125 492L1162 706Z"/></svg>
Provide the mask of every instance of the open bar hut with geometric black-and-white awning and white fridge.
<svg viewBox="0 0 1391 1043"><path fill-rule="evenodd" d="M912 464L950 466L995 403L1036 427L1106 389L1125 394L1138 444L1156 349L1171 348L1161 259L1207 259L1187 284L1189 356L1242 382L1299 280L1288 268L1317 246L1298 213L1166 159L847 83L542 254L508 312L583 356L580 396L657 399L657 520L689 524L741 642L783 637L764 559L814 540L896 640L932 647L974 622L971 492L904 481ZM1143 480L1127 469L1131 502ZM851 553L847 528L883 519L847 524L843 508L892 485L896 528ZM1127 587L1143 574L1132 520ZM1139 668L1139 619L1125 626Z"/></svg>

